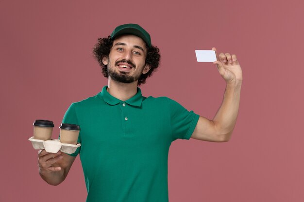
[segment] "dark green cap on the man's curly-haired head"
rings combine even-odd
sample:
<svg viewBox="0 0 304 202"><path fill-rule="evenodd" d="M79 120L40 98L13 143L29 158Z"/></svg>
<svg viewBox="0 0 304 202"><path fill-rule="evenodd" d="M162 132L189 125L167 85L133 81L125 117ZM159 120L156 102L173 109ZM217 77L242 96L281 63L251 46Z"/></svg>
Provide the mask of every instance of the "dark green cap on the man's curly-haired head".
<svg viewBox="0 0 304 202"><path fill-rule="evenodd" d="M133 34L140 37L146 44L151 47L151 37L150 34L145 31L142 27L137 24L124 24L119 25L111 34L111 38L115 39L116 37L123 34Z"/></svg>

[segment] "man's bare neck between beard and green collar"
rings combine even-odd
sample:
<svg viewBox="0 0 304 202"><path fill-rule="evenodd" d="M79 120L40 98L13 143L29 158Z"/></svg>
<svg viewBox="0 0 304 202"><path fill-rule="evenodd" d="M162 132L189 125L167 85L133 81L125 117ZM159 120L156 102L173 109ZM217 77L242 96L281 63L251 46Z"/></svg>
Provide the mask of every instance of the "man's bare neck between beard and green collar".
<svg viewBox="0 0 304 202"><path fill-rule="evenodd" d="M133 83L120 83L109 77L107 91L113 97L126 101L137 93L137 81Z"/></svg>

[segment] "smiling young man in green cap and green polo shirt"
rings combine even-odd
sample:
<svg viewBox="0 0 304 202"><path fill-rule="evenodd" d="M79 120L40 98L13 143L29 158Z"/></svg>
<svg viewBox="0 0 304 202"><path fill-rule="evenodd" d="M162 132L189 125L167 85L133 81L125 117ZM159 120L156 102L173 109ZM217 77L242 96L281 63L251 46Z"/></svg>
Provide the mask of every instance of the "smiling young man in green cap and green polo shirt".
<svg viewBox="0 0 304 202"><path fill-rule="evenodd" d="M213 50L216 50L213 48ZM168 152L176 139L228 141L236 123L242 70L236 55L220 53L226 81L219 111L208 120L167 97L143 97L138 85L158 67L160 55L147 31L118 26L94 48L108 86L72 103L63 123L79 124L82 144L74 154L39 151L39 173L58 185L80 154L87 202L168 202Z"/></svg>

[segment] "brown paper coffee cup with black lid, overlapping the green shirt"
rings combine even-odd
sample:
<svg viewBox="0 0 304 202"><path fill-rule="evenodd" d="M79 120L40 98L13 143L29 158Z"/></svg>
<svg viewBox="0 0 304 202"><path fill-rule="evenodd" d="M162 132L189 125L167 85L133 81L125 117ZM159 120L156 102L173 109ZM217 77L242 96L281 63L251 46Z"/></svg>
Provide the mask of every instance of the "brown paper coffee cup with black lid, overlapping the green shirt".
<svg viewBox="0 0 304 202"><path fill-rule="evenodd" d="M76 124L60 125L60 142L65 144L77 144L80 127Z"/></svg>

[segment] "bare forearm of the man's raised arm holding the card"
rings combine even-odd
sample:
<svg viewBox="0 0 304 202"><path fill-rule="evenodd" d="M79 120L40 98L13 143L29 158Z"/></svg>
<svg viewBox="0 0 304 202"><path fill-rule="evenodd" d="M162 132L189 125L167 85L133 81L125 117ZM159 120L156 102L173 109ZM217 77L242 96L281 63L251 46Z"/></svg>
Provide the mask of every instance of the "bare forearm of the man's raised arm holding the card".
<svg viewBox="0 0 304 202"><path fill-rule="evenodd" d="M227 83L223 102L213 121L220 134L230 139L236 124L242 82Z"/></svg>

